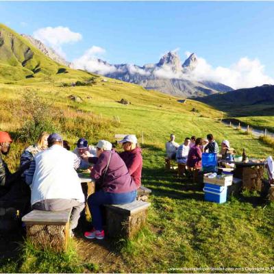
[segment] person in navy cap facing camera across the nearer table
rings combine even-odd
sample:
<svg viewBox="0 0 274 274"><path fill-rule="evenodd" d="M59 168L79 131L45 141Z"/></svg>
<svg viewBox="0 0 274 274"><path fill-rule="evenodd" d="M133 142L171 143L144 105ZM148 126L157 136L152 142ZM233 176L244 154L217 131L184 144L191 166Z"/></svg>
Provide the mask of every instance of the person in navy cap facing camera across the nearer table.
<svg viewBox="0 0 274 274"><path fill-rule="evenodd" d="M88 155L88 157L96 157L96 148L92 145L88 145L88 141L85 138L79 138L77 141L77 147L73 150L81 161L79 169L88 169L90 164L88 162L83 161L84 155Z"/></svg>

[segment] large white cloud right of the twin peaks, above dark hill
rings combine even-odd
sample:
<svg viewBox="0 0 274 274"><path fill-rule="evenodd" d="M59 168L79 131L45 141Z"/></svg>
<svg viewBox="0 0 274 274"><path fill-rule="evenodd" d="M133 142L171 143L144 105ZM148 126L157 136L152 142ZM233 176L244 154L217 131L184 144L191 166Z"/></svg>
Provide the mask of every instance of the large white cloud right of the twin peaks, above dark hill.
<svg viewBox="0 0 274 274"><path fill-rule="evenodd" d="M212 80L232 88L251 88L262 84L274 84L274 79L264 73L264 65L258 59L240 58L229 67L213 68L204 58L197 58L197 66L188 73L193 80Z"/></svg>

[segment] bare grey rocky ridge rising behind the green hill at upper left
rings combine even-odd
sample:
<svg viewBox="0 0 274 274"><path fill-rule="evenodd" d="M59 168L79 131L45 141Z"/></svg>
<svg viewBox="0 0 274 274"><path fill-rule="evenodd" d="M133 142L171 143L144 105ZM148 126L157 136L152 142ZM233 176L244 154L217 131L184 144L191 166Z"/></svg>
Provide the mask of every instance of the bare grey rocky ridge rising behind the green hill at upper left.
<svg viewBox="0 0 274 274"><path fill-rule="evenodd" d="M70 62L66 62L66 60L64 60L64 58L62 58L56 51L54 51L54 49L51 49L51 47L47 47L40 40L37 40L27 34L21 34L21 36L27 38L27 40L29 40L29 42L31 42L32 45L34 45L34 47L42 51L42 53L44 53L47 57L51 58L51 60L58 62L59 64L63 64L64 66L71 65Z"/></svg>

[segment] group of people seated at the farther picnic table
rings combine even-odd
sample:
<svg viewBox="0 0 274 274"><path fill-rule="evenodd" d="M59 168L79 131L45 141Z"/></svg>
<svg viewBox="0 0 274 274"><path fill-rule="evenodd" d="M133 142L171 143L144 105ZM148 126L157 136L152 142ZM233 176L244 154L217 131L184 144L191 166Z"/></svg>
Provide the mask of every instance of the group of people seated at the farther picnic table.
<svg viewBox="0 0 274 274"><path fill-rule="evenodd" d="M230 147L228 140L223 140L221 143L221 151L214 140L212 134L208 134L207 138L185 138L182 145L175 142L175 135L171 134L170 140L166 142L166 159L176 160L178 164L183 164L188 169L201 169L202 153L220 153L223 160L231 158L234 154L234 149Z"/></svg>

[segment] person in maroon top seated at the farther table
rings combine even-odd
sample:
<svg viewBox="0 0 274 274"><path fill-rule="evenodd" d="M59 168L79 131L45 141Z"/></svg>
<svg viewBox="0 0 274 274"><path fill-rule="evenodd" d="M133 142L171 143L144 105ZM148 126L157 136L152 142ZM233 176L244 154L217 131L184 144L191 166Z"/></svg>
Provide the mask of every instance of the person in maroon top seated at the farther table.
<svg viewBox="0 0 274 274"><path fill-rule="evenodd" d="M191 147L188 153L188 160L186 165L193 171L193 180L194 182L198 182L198 173L201 169L201 145L203 144L202 138L197 138L195 141L195 146Z"/></svg>

